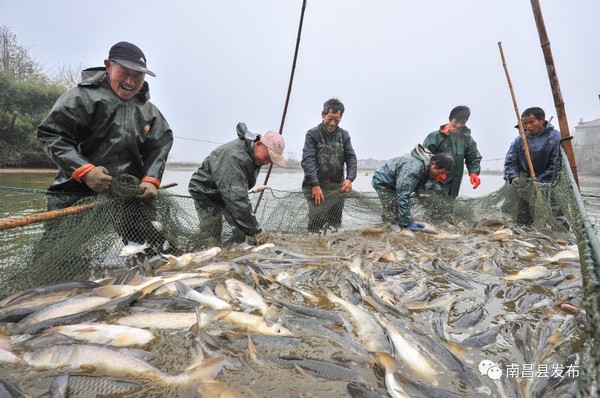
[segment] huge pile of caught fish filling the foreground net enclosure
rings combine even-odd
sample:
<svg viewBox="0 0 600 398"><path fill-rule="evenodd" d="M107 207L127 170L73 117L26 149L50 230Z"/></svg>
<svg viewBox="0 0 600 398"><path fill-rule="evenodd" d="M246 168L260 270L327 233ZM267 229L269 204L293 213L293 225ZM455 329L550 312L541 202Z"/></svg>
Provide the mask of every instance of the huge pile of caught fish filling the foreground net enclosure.
<svg viewBox="0 0 600 398"><path fill-rule="evenodd" d="M273 234L0 301L7 396L572 396L577 247L490 220Z"/></svg>

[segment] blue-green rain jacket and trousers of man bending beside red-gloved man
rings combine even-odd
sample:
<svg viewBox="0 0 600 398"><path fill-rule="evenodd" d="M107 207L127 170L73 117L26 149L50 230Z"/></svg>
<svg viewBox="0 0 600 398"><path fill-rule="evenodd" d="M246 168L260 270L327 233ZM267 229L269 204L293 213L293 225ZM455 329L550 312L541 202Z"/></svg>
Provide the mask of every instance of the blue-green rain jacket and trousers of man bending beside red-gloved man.
<svg viewBox="0 0 600 398"><path fill-rule="evenodd" d="M389 160L373 173L371 185L376 191L395 191L400 226L413 222L410 196L425 188L432 157L431 152L417 145L410 154Z"/></svg>

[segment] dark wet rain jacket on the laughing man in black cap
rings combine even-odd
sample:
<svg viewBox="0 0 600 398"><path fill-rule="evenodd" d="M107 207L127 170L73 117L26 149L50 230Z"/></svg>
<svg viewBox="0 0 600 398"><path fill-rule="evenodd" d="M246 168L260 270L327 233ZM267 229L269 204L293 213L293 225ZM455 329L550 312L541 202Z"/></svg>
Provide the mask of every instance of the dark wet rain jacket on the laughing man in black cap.
<svg viewBox="0 0 600 398"><path fill-rule="evenodd" d="M173 145L173 132L152 104L147 82L128 101L111 89L104 67L86 69L38 126L38 139L58 166L50 191L95 195L73 173L86 164L111 176L131 174L160 181Z"/></svg>

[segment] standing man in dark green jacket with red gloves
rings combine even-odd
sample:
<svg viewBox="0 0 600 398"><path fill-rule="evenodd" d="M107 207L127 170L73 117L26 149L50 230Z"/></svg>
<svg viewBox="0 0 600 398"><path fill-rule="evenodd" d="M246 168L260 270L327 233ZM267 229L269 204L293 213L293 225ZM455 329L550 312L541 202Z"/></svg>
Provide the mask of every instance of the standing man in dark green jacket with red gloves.
<svg viewBox="0 0 600 398"><path fill-rule="evenodd" d="M471 130L466 125L469 116L471 116L471 110L468 107L464 105L455 107L448 117L449 122L440 126L439 130L429 133L423 141L423 146L434 155L447 152L454 158L456 167L452 173L436 179L438 184L441 184L441 191L452 198L456 198L460 191L464 171L463 163L469 172L469 181L473 185L473 189L481 183L479 178L481 154L477 150L477 143L471 136Z"/></svg>

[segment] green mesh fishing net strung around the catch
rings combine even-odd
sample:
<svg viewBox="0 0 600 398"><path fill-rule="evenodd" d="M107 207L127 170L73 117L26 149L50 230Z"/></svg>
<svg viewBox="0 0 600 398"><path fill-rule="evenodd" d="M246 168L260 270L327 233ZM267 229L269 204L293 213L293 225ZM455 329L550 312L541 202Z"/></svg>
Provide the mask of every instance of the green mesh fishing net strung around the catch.
<svg viewBox="0 0 600 398"><path fill-rule="evenodd" d="M600 264L598 240L574 183L566 157L559 162L553 184L538 184L525 176L518 187L505 185L478 198L448 201L436 195L416 195L412 215L434 225L467 224L472 228L493 220L530 224L539 233L577 242L583 278L583 304L588 332L581 348L581 396L598 396L600 365ZM36 286L75 279L114 276L134 265L134 256L120 254L131 242L145 243L146 253L183 253L240 239L224 220L199 211L194 200L160 190L152 204L140 203L138 181L120 176L105 195L82 198L67 215L46 214L49 192L0 187L0 297ZM56 194L54 194L56 195ZM307 234L309 213L313 233L381 226L382 205L375 192L339 193L329 187L327 201L335 211L314 213L305 192L266 190L256 218L267 233ZM258 195L252 195L256 207ZM69 210L72 210L71 208ZM67 210L68 211L68 210ZM35 219L38 222L28 222ZM15 222L18 226L15 226ZM218 239L220 242L215 242Z"/></svg>

